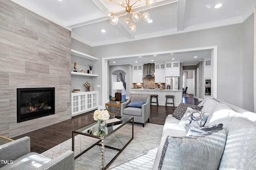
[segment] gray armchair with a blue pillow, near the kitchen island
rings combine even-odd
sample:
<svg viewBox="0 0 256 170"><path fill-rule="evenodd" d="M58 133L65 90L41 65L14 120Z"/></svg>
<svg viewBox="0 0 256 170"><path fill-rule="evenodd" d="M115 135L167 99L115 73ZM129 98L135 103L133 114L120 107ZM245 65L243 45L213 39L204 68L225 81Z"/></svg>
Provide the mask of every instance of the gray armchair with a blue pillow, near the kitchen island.
<svg viewBox="0 0 256 170"><path fill-rule="evenodd" d="M145 104L141 106L141 108L138 107L126 107L130 102L140 102L140 101L146 101ZM144 127L144 123L148 120L149 123L149 117L150 117L150 94L137 94L137 93L130 93L129 99L121 104L121 116L128 116L133 117L134 122L136 123L142 123L142 126Z"/></svg>

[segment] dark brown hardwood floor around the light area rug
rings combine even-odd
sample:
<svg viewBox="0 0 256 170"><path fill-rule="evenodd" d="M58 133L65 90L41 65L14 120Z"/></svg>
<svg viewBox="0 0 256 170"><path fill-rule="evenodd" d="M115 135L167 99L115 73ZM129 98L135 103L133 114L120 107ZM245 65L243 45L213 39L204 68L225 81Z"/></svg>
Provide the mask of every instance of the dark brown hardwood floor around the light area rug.
<svg viewBox="0 0 256 170"><path fill-rule="evenodd" d="M183 103L198 105L199 101L194 99L192 94L190 97L183 97ZM150 123L164 125L167 115L172 114L176 107L172 106L150 106ZM42 153L72 137L72 130L76 130L86 124L94 122L93 112L90 111L81 115L72 117L66 121L44 127L29 133L25 133L12 139L19 139L24 136L30 137L31 152ZM120 115L120 112L116 115Z"/></svg>

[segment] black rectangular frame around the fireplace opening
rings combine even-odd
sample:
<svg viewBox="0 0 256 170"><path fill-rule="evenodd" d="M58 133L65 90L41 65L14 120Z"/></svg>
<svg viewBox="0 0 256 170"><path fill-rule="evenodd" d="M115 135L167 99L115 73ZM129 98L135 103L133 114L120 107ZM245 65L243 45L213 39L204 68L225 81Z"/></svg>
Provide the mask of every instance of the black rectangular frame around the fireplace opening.
<svg viewBox="0 0 256 170"><path fill-rule="evenodd" d="M41 110L34 113L26 113L26 114L20 114L20 107L21 102L18 102L21 100L21 92L40 92L40 91L51 91L51 97L52 97L52 106L51 109L47 110ZM36 119L39 117L44 117L48 115L55 114L55 88L49 87L49 88L17 88L17 123L28 121L32 119Z"/></svg>

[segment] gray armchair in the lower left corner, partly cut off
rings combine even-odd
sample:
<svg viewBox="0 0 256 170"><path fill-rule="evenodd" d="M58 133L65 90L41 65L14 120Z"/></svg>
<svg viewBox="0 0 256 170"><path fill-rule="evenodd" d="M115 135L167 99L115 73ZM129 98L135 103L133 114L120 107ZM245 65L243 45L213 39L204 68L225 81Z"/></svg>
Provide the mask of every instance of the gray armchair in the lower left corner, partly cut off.
<svg viewBox="0 0 256 170"><path fill-rule="evenodd" d="M0 145L0 170L74 170L74 152L49 159L36 152L30 152L30 137Z"/></svg>

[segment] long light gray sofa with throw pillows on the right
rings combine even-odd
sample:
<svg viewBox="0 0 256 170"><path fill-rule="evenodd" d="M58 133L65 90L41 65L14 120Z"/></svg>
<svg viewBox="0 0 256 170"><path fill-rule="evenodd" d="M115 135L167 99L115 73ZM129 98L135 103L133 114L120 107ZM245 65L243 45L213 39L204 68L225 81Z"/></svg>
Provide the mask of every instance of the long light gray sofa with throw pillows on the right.
<svg viewBox="0 0 256 170"><path fill-rule="evenodd" d="M222 124L222 129L207 131L212 132L208 136L201 133L186 137L186 129L179 126L181 120L168 115L153 170L255 170L256 113L212 97L206 98L198 106L203 106L201 111L208 114L205 127ZM192 140L201 140L201 143L193 146ZM193 154L194 157L191 156Z"/></svg>

